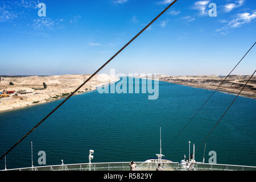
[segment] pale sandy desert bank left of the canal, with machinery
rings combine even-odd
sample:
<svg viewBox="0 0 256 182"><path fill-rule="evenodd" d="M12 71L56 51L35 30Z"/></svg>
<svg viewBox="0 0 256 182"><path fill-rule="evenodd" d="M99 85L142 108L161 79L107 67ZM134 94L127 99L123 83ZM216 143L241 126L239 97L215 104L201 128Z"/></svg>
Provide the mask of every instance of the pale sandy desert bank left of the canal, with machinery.
<svg viewBox="0 0 256 182"><path fill-rule="evenodd" d="M0 98L0 112L20 109L36 104L58 100L67 97L90 75L55 75L55 76L28 76L2 77L0 92L7 86L7 91L15 90L10 97ZM98 86L118 81L116 76L100 74L86 83L76 94L96 90ZM14 85L10 85L13 82ZM47 88L44 89L43 82ZM16 95L15 95L16 94Z"/></svg>

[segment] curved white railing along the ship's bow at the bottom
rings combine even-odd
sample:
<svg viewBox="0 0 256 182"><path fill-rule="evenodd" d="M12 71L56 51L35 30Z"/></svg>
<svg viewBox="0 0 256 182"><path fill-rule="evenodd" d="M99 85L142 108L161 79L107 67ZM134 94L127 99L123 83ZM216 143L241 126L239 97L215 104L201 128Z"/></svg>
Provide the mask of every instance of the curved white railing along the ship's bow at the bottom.
<svg viewBox="0 0 256 182"><path fill-rule="evenodd" d="M137 171L155 171L158 163L137 162ZM164 171L180 171L184 167L175 162L162 163ZM6 169L3 171L129 171L129 162L117 163L81 163L81 164L61 164L53 166L40 166L28 168ZM227 164L203 164L195 163L195 171L256 171L252 166L236 166Z"/></svg>

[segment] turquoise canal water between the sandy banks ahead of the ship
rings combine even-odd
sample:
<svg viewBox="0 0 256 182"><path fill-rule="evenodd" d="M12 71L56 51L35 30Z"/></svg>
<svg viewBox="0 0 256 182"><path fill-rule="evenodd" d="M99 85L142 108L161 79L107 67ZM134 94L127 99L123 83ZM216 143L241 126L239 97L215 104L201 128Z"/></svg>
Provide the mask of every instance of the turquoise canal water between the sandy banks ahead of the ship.
<svg viewBox="0 0 256 182"><path fill-rule="evenodd" d="M199 146L235 96L216 93L174 142L171 140L213 91L159 82L158 100L148 94L99 94L72 97L38 129L7 155L7 168L30 167L30 141L34 164L46 151L46 164L144 161L159 153L159 126L166 158L179 162L188 155L188 140ZM61 100L0 114L2 155L36 125ZM238 97L207 140L209 151L217 152L217 163L256 166L256 100ZM204 147L195 158L201 162ZM5 166L0 161L0 169Z"/></svg>

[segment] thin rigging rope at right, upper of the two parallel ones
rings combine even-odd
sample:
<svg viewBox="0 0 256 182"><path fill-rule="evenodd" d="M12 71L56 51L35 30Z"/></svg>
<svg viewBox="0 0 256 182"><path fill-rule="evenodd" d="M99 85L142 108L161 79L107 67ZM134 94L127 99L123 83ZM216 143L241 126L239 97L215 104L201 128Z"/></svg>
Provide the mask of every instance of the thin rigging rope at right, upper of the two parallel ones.
<svg viewBox="0 0 256 182"><path fill-rule="evenodd" d="M246 52L246 54L242 57L242 59L237 63L237 65L232 69L232 71L229 73L228 76L225 77L225 79L221 82L220 85L218 85L218 87L214 90L214 92L212 94L210 94L210 97L204 102L204 104L199 108L199 110L196 111L196 113L192 116L191 119L189 119L189 121L185 124L185 126L183 127L183 129L180 130L180 132L174 137L174 139L172 139L172 142L179 137L179 135L183 132L183 130L185 129L185 127L188 126L188 124L192 121L193 118L196 117L197 113L199 113L199 111L204 107L205 104L207 104L207 102L210 100L210 98L213 96L213 94L215 92L217 92L218 88L220 88L220 86L226 81L226 78L228 78L230 76L230 74L234 71L234 69L236 69L236 67L238 66L238 64L241 63L241 61L243 60L243 58L245 58L245 56L247 55L247 53L249 53L251 51L251 49L254 47L254 45L256 44L256 42L253 44L253 46L251 46L251 48L249 49L249 51Z"/></svg>

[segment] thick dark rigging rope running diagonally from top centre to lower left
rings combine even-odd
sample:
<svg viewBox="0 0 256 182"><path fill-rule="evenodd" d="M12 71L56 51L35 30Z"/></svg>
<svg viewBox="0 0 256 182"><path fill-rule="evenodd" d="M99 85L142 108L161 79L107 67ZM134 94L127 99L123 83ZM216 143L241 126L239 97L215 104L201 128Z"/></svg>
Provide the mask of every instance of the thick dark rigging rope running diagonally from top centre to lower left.
<svg viewBox="0 0 256 182"><path fill-rule="evenodd" d="M24 138L26 138L30 133L32 133L32 131L34 131L39 125L41 125L41 123L43 123L52 113L54 113L57 109L59 109L59 107L61 105L63 105L67 100L69 100L69 98L71 98L73 96L73 94L75 94L80 88L82 88L82 86L84 86L86 84L86 82L88 82L90 79L92 79L92 77L94 77L98 72L101 71L102 68L104 68L110 61L112 61L114 59L115 56L117 56L120 52L123 51L123 49L125 49L127 46L129 46L129 44L131 42L133 42L139 35L142 34L142 32L144 32L149 26L151 26L152 23L155 22L155 20L157 20L161 15L163 15L168 9L170 9L170 7L172 5L174 5L174 3L176 3L177 0L174 0L169 6L166 7L166 9L164 9L158 16L156 16L155 19L153 19L150 23L147 24L146 27L144 27L137 35L134 36L133 39L131 39L127 44L125 44L125 46L123 46L117 53L115 53L114 56L112 56L108 61L106 61L106 63L104 65L102 65L102 67L100 67L96 72L93 73L93 75L91 75L84 83L82 83L74 92L72 92L67 98L65 98L65 100L63 102L61 102L55 109L53 109L51 111L51 113L49 113L46 117L44 117L42 119L42 121L40 121L35 127L33 127L30 131L28 131L28 133L26 135L24 135L24 137L22 137L18 142L16 142L14 144L13 147L11 147L7 152L5 152L4 155L1 156L0 160L2 158L4 158L11 150L13 150L14 147L16 147L20 142L22 142L22 140Z"/></svg>

